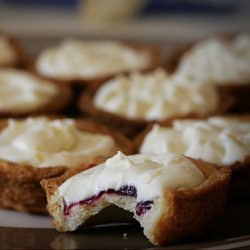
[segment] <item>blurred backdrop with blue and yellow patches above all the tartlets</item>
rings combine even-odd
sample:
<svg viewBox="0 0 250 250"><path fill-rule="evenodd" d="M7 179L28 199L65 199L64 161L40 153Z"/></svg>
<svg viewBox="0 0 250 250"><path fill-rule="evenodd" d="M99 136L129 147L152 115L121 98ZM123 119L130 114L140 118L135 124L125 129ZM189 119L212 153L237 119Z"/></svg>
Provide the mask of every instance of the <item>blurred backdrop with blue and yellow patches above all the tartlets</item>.
<svg viewBox="0 0 250 250"><path fill-rule="evenodd" d="M22 39L186 42L212 33L250 31L250 1L0 0L0 29Z"/></svg>

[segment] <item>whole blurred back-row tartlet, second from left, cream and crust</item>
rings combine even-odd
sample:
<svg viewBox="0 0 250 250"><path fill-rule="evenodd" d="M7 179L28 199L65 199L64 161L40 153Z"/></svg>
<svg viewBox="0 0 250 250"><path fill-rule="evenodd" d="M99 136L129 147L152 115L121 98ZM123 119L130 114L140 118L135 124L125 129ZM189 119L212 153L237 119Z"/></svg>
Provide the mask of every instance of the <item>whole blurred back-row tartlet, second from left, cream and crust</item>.
<svg viewBox="0 0 250 250"><path fill-rule="evenodd" d="M45 48L31 60L29 69L39 77L66 84L73 89L73 109L86 86L99 86L103 81L134 70L148 71L161 63L158 49L111 40L65 39Z"/></svg>

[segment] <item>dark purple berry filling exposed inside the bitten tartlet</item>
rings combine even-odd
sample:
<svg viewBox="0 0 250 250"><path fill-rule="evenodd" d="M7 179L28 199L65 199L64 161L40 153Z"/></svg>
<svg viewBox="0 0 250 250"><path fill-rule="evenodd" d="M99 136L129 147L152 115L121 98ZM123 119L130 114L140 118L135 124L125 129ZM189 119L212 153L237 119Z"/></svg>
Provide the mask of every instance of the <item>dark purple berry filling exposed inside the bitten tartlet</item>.
<svg viewBox="0 0 250 250"><path fill-rule="evenodd" d="M69 206L66 205L64 201L64 215L70 215L70 211L74 206L77 205L90 205L94 201L98 200L103 194L118 194L122 196L131 196L131 197L136 197L137 196L137 190L134 186L122 186L119 190L114 190L114 189L108 189L107 191L101 191L98 195L94 195L88 199L81 200L79 202L74 202L70 204ZM146 213L148 210L151 209L151 206L154 204L153 201L140 201L136 204L136 214L138 216L143 215Z"/></svg>

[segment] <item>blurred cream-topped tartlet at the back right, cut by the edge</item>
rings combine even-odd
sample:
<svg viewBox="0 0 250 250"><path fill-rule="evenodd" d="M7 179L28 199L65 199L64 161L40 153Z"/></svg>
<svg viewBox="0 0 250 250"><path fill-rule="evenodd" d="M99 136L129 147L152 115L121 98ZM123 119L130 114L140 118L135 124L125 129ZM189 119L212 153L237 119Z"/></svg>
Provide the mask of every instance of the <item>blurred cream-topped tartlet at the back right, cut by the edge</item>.
<svg viewBox="0 0 250 250"><path fill-rule="evenodd" d="M227 88L235 111L250 111L250 35L211 37L187 46L174 56L175 71L197 81Z"/></svg>

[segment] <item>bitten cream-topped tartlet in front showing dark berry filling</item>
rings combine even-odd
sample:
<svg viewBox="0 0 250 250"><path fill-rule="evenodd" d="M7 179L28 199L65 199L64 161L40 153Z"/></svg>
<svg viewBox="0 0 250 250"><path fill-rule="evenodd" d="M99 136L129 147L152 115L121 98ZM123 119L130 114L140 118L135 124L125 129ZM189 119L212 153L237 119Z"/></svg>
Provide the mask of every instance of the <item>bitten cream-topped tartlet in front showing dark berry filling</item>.
<svg viewBox="0 0 250 250"><path fill-rule="evenodd" d="M222 213L230 170L176 154L118 152L70 177L43 180L57 230L74 231L109 205L133 213L154 245L204 233Z"/></svg>

